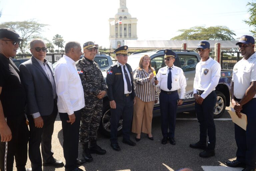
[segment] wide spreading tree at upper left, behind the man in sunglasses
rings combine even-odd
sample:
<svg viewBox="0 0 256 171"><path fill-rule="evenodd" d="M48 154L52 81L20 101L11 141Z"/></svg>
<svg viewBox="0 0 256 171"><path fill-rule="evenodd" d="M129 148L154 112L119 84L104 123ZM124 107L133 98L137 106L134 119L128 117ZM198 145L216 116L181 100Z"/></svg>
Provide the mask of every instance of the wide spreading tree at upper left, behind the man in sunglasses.
<svg viewBox="0 0 256 171"><path fill-rule="evenodd" d="M0 27L7 27L15 30L24 39L20 44L20 50L22 54L25 53L26 47L28 47L28 42L34 38L42 38L41 32L44 28L48 26L47 24L40 24L36 21L15 21L15 22L4 22L0 24Z"/></svg>

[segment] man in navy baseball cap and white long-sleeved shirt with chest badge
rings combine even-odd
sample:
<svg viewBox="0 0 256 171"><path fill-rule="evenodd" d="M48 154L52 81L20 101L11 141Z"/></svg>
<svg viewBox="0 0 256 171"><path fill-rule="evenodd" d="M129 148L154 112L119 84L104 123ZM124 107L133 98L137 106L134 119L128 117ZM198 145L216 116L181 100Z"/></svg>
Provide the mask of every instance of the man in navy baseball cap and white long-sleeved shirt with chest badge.
<svg viewBox="0 0 256 171"><path fill-rule="evenodd" d="M201 60L196 65L193 91L196 100L196 116L200 124L200 139L199 142L189 146L191 148L203 149L204 151L199 156L208 158L215 155L216 129L213 112L217 96L214 90L220 79L221 67L217 61L209 57L209 42L199 42L197 49ZM209 136L208 143L207 135Z"/></svg>

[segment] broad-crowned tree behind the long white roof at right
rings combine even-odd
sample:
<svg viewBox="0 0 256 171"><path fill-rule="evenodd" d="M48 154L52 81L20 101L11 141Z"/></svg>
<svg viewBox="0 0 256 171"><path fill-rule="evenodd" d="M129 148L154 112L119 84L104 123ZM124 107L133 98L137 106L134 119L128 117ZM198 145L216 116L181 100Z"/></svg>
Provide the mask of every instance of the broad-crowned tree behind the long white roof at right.
<svg viewBox="0 0 256 171"><path fill-rule="evenodd" d="M232 35L236 35L226 26L195 26L178 31L182 33L171 40L235 40Z"/></svg>

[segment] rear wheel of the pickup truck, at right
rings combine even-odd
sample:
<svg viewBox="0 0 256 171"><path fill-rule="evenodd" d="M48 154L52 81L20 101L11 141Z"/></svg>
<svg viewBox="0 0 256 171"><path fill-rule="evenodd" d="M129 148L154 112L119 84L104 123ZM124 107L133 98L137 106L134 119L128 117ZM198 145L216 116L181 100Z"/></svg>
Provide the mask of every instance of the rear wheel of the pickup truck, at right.
<svg viewBox="0 0 256 171"><path fill-rule="evenodd" d="M226 109L226 97L220 91L215 91L215 93L217 95L217 101L216 101L216 104L214 106L213 117L214 118L219 118L225 112L225 109Z"/></svg>

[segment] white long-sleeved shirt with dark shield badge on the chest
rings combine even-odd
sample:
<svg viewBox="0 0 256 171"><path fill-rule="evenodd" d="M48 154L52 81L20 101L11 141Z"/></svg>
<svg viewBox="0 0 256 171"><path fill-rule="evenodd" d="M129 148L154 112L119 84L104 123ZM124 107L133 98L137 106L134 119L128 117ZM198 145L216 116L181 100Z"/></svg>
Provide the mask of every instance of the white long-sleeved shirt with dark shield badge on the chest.
<svg viewBox="0 0 256 171"><path fill-rule="evenodd" d="M205 99L218 85L220 71L220 64L211 57L204 62L201 59L196 64L196 75L193 86L194 94L197 93L197 90L204 90L200 96Z"/></svg>

